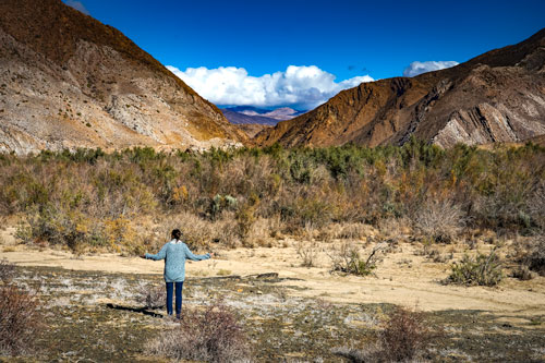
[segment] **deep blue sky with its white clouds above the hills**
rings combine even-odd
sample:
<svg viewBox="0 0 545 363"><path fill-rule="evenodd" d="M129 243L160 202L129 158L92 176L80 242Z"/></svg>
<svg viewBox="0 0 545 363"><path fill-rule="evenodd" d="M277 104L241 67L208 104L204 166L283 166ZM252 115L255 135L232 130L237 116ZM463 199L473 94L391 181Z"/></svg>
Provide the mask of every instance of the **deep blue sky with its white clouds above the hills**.
<svg viewBox="0 0 545 363"><path fill-rule="evenodd" d="M66 2L123 32L211 101L246 97L267 107L314 107L362 81L403 75L412 62L463 62L545 27L544 0Z"/></svg>

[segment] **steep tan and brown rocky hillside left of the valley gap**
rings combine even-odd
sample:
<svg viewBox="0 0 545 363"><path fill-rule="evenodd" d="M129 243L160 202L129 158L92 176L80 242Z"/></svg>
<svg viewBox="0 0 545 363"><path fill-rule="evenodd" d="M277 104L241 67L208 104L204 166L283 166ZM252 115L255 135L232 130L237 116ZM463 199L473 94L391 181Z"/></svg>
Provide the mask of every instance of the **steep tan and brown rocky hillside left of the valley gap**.
<svg viewBox="0 0 545 363"><path fill-rule="evenodd" d="M0 152L244 142L119 31L61 0L0 2Z"/></svg>

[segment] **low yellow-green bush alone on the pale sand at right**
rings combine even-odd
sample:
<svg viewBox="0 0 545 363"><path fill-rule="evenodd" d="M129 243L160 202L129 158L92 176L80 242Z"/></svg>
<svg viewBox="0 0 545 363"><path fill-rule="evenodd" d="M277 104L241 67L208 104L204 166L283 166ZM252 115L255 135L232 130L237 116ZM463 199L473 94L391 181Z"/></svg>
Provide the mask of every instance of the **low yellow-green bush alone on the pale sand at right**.
<svg viewBox="0 0 545 363"><path fill-rule="evenodd" d="M463 255L459 263L452 265L452 271L447 278L447 283L495 286L504 277L501 263L496 250L488 255L477 253L475 257Z"/></svg>

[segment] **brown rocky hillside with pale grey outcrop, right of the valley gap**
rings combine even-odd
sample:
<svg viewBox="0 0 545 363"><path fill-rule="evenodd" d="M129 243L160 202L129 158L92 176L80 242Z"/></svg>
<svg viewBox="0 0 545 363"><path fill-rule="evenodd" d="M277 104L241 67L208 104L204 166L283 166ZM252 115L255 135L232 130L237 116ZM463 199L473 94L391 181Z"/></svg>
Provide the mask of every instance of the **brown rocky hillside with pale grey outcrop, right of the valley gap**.
<svg viewBox="0 0 545 363"><path fill-rule="evenodd" d="M403 144L444 147L520 142L545 134L545 29L451 69L347 89L261 132L258 145Z"/></svg>

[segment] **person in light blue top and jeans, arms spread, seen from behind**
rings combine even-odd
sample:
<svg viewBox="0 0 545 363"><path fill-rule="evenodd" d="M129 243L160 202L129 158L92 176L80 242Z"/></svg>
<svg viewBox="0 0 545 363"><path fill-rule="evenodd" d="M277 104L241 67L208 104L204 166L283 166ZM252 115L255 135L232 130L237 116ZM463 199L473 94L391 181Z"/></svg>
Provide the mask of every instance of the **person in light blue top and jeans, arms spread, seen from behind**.
<svg viewBox="0 0 545 363"><path fill-rule="evenodd" d="M180 239L182 232L174 229L171 233L172 240L166 243L159 253L141 256L145 259L165 259L165 282L167 286L167 313L172 315L172 294L175 287L175 317L179 319L182 314L182 289L185 280L185 261L203 261L214 257L213 253L204 255L193 254L187 245Z"/></svg>

